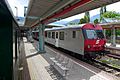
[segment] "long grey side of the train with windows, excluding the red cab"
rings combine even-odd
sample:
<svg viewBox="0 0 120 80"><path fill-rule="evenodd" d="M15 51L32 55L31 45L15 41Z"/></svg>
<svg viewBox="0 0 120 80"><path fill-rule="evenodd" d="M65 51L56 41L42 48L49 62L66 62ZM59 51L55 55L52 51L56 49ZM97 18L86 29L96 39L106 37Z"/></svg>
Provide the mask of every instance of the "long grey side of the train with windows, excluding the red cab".
<svg viewBox="0 0 120 80"><path fill-rule="evenodd" d="M81 26L45 29L45 34L47 34L45 42L84 55L84 37Z"/></svg>

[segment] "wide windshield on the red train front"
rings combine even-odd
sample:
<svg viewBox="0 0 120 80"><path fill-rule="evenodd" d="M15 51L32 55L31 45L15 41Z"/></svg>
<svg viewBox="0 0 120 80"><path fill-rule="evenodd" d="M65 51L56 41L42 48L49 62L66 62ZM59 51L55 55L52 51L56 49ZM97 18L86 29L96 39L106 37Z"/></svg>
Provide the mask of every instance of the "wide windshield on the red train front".
<svg viewBox="0 0 120 80"><path fill-rule="evenodd" d="M88 39L103 39L102 30L84 30L85 37Z"/></svg>

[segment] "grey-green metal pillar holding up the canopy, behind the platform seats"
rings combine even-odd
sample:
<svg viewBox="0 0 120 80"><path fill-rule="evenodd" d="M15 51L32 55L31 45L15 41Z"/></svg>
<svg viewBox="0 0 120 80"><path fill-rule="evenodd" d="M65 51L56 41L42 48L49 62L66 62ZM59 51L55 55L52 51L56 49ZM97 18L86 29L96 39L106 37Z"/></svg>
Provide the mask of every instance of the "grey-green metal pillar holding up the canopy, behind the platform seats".
<svg viewBox="0 0 120 80"><path fill-rule="evenodd" d="M40 24L40 26L39 26L39 52L40 53L45 52L45 48L44 48L44 29L45 29L44 24Z"/></svg>

